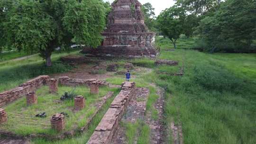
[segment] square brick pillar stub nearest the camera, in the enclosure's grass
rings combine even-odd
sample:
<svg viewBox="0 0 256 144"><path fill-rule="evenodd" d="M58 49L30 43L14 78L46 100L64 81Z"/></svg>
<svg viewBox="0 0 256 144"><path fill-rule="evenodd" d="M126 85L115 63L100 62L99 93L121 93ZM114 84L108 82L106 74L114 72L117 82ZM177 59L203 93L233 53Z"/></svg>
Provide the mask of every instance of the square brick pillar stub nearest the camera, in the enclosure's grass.
<svg viewBox="0 0 256 144"><path fill-rule="evenodd" d="M65 128L65 119L63 114L55 114L51 118L52 129L60 132Z"/></svg>

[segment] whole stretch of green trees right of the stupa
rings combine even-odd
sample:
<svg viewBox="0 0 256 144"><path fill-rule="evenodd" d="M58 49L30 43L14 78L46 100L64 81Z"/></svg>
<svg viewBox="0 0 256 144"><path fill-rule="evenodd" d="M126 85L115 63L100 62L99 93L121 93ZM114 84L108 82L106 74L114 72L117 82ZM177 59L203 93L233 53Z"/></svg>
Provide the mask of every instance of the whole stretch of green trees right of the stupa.
<svg viewBox="0 0 256 144"><path fill-rule="evenodd" d="M184 34L205 52L256 52L256 0L176 0L157 22L174 48Z"/></svg>

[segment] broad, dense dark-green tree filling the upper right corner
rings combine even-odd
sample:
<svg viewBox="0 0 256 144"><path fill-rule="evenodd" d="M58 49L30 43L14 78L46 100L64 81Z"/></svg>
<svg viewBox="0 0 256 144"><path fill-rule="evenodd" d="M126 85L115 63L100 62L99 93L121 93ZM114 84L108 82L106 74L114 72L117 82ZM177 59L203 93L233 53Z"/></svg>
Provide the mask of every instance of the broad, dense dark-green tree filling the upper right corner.
<svg viewBox="0 0 256 144"><path fill-rule="evenodd" d="M256 38L256 1L227 0L213 15L201 20L197 34L210 52L245 52Z"/></svg>

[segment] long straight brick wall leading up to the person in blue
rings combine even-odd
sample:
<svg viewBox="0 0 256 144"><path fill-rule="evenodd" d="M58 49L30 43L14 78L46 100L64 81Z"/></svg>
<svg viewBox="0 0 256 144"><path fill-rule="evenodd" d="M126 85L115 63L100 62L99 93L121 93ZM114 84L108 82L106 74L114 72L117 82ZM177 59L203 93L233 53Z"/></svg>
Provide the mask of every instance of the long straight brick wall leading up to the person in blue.
<svg viewBox="0 0 256 144"><path fill-rule="evenodd" d="M110 144L112 136L116 132L117 127L123 114L126 111L130 99L135 94L135 83L124 82L122 90L113 100L110 108L101 119L101 122L96 127L94 133L87 144Z"/></svg>

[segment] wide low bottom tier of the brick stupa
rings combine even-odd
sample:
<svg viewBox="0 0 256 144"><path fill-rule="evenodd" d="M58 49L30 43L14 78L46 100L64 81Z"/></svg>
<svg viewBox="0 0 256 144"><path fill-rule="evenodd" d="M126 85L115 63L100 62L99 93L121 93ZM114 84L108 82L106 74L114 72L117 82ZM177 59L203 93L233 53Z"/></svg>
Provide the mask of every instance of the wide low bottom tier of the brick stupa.
<svg viewBox="0 0 256 144"><path fill-rule="evenodd" d="M153 46L99 46L97 48L84 48L81 53L85 56L115 58L155 58L158 55Z"/></svg>

